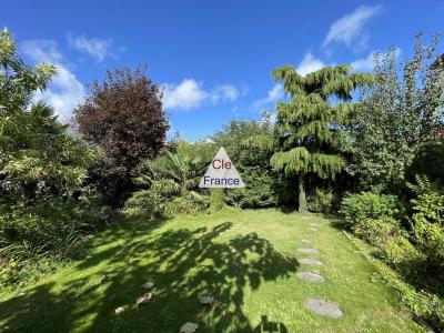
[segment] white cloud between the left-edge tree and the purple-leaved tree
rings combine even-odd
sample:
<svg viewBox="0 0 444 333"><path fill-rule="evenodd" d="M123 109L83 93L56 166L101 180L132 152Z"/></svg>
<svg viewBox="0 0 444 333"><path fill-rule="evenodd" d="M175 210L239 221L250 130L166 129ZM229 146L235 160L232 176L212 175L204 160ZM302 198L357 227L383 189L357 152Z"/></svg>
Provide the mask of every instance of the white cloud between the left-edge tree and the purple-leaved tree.
<svg viewBox="0 0 444 333"><path fill-rule="evenodd" d="M36 62L49 62L57 67L58 74L44 92L37 92L34 101L43 100L54 108L62 121L68 121L72 110L84 99L85 89L75 75L63 64L63 57L53 40L28 40L22 51Z"/></svg>

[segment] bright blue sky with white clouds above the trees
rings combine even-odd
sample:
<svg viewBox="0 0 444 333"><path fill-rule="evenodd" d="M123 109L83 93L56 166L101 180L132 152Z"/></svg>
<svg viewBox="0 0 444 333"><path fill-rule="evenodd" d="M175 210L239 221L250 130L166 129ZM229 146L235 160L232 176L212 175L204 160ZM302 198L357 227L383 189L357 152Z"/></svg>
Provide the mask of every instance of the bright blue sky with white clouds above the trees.
<svg viewBox="0 0 444 333"><path fill-rule="evenodd" d="M395 47L401 61L416 32L430 41L443 22L444 2L413 0L6 1L0 11L27 61L58 65L40 98L62 118L108 69L147 63L172 129L190 140L273 110L278 65L371 70L374 51Z"/></svg>

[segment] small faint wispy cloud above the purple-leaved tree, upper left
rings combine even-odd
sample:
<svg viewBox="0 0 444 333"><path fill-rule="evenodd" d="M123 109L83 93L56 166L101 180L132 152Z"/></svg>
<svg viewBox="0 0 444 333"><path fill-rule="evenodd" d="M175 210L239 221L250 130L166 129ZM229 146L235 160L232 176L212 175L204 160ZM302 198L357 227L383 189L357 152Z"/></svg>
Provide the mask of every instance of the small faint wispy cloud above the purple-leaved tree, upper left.
<svg viewBox="0 0 444 333"><path fill-rule="evenodd" d="M107 58L118 59L118 54L113 51L112 39L90 38L85 36L68 36L68 43L71 48L90 56L98 62Z"/></svg>

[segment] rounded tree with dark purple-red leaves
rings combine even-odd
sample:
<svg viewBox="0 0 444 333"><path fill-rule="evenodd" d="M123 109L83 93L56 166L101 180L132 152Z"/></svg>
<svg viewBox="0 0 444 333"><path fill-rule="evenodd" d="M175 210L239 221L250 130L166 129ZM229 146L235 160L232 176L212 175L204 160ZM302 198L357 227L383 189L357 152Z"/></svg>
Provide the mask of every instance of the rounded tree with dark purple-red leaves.
<svg viewBox="0 0 444 333"><path fill-rule="evenodd" d="M79 132L104 152L91 171L111 204L121 204L133 189L132 179L143 159L162 149L169 129L159 85L145 68L109 71L103 83L74 110Z"/></svg>

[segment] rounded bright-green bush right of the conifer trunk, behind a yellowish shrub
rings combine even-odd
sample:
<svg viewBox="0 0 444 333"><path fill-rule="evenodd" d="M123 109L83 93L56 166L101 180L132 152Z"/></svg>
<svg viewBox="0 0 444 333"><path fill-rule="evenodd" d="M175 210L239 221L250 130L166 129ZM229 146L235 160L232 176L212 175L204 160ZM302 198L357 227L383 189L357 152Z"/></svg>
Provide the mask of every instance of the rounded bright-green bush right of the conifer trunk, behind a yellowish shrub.
<svg viewBox="0 0 444 333"><path fill-rule="evenodd" d="M340 213L344 216L344 224L349 228L365 219L395 223L394 218L398 212L398 203L395 195L375 192L349 194L342 200L340 210Z"/></svg>

